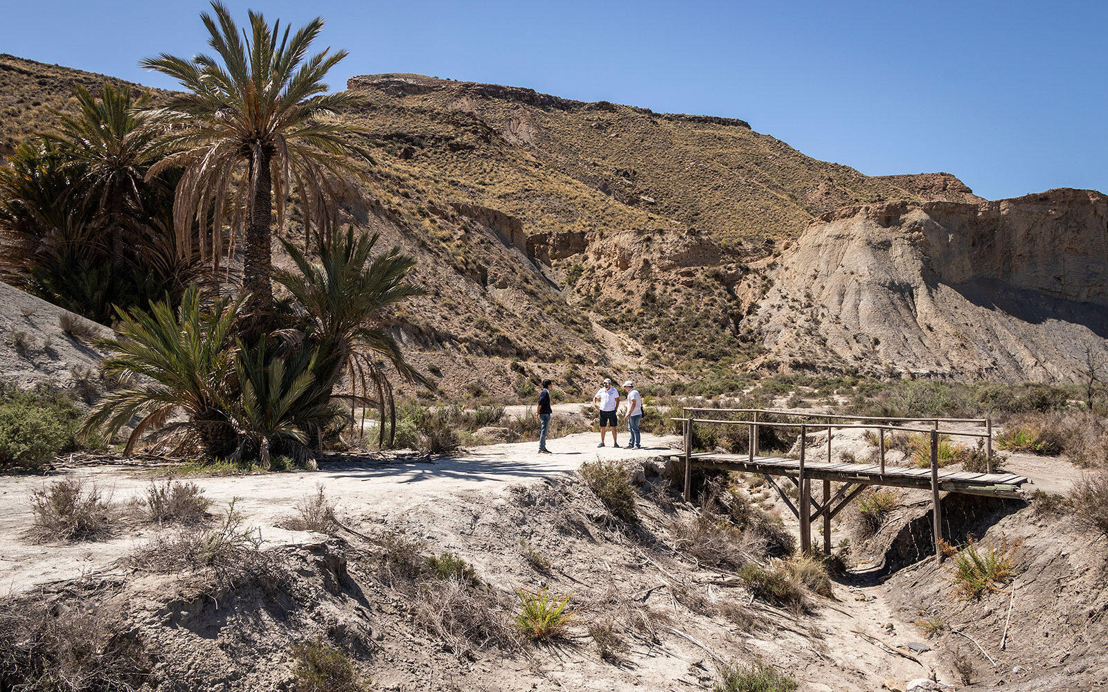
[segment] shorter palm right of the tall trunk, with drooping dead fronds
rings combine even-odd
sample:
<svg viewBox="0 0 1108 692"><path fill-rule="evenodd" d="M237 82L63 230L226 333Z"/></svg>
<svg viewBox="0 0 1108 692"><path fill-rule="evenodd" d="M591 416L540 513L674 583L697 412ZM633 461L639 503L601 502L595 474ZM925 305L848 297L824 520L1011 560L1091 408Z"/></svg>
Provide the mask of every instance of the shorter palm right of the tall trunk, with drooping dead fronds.
<svg viewBox="0 0 1108 692"><path fill-rule="evenodd" d="M427 292L407 281L416 260L400 248L371 258L377 241L377 235L355 237L348 228L330 244L321 242L320 261L311 265L304 252L283 240L299 271L277 271L274 278L300 306L305 334L326 354L318 366L320 380L334 386L346 374L351 407L372 399L381 413L379 442L384 442L388 415L391 444L396 406L386 363L409 382L427 381L404 362L400 345L378 321L390 306Z"/></svg>

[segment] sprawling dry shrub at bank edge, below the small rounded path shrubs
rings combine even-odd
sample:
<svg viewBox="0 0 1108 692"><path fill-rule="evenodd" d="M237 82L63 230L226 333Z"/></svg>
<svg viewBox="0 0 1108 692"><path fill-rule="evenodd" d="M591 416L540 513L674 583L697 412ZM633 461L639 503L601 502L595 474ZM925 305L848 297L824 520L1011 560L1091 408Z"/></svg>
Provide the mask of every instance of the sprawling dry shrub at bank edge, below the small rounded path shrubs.
<svg viewBox="0 0 1108 692"><path fill-rule="evenodd" d="M130 559L132 566L161 574L201 575L212 590L232 589L245 583L279 587L288 574L280 561L261 550L261 534L245 527L245 517L232 500L223 521L215 527L182 529L158 536L140 548Z"/></svg>

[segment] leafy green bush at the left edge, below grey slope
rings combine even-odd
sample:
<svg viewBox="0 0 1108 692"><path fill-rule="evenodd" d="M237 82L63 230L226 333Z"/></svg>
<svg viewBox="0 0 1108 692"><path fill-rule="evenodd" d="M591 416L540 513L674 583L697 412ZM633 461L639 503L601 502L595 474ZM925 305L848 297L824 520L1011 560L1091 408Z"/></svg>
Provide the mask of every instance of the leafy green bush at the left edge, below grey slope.
<svg viewBox="0 0 1108 692"><path fill-rule="evenodd" d="M76 448L73 434L81 412L61 390L22 392L0 386L0 469L37 467Z"/></svg>

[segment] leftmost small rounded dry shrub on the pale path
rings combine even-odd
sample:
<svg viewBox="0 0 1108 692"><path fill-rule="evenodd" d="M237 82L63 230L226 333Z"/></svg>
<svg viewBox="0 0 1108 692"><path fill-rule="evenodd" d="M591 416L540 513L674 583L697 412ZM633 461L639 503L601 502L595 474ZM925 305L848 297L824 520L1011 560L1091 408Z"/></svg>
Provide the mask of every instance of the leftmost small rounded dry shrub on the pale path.
<svg viewBox="0 0 1108 692"><path fill-rule="evenodd" d="M64 478L31 490L34 524L30 537L47 540L94 540L111 534L114 509L110 497L102 497L95 483Z"/></svg>

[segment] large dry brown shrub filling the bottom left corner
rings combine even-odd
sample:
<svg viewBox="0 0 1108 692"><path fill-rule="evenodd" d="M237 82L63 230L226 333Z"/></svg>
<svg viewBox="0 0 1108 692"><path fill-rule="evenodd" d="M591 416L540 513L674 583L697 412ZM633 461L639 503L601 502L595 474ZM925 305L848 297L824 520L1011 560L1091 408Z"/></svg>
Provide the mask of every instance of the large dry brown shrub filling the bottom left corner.
<svg viewBox="0 0 1108 692"><path fill-rule="evenodd" d="M102 591L0 599L0 690L131 692L150 682L152 668L141 637Z"/></svg>

